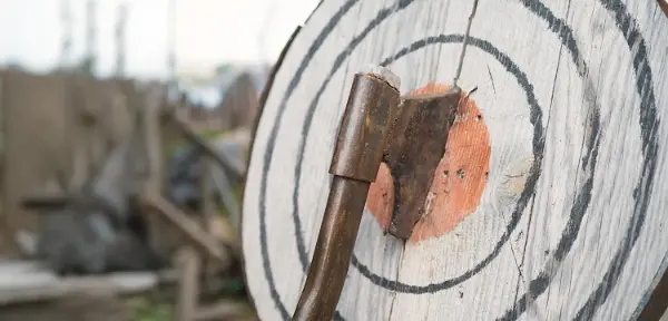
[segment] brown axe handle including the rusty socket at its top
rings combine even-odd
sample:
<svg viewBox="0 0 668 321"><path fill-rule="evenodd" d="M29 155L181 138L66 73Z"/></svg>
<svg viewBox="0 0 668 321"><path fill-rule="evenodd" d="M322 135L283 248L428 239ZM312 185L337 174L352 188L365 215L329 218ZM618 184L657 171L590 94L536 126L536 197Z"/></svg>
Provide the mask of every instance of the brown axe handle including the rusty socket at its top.
<svg viewBox="0 0 668 321"><path fill-rule="evenodd" d="M369 187L399 106L395 76L377 70L355 75L330 167L334 178L327 206L293 320L332 320L338 303Z"/></svg>

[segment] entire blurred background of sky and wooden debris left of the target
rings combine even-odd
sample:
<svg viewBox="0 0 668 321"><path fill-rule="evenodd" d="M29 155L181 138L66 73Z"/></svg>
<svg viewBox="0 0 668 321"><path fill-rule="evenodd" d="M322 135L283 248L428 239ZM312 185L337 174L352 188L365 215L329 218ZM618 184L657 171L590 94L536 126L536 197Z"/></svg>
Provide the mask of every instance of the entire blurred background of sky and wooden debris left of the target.
<svg viewBox="0 0 668 321"><path fill-rule="evenodd" d="M261 93L318 0L0 0L0 320L255 320Z"/></svg>

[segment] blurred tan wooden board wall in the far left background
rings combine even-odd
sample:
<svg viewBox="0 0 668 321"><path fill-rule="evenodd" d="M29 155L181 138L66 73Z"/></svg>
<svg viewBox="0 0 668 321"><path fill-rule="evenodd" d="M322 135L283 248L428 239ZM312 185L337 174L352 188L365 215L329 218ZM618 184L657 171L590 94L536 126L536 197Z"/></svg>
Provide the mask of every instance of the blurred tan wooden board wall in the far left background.
<svg viewBox="0 0 668 321"><path fill-rule="evenodd" d="M84 76L3 70L0 78L2 236L11 243L16 231L37 226L35 213L21 208L21 198L40 193L55 178L60 188L89 179L109 147L126 137L130 126L126 100L136 99L137 93L130 81ZM85 126L81 115L94 123ZM16 244L7 245L3 253L19 254Z"/></svg>

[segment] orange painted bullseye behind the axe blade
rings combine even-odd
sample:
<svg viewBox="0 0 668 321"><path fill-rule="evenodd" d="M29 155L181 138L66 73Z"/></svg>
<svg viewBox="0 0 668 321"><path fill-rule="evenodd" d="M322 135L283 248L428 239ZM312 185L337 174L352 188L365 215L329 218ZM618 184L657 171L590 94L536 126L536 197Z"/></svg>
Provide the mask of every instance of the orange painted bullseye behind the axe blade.
<svg viewBox="0 0 668 321"><path fill-rule="evenodd" d="M409 95L438 94L449 85L430 82ZM445 154L434 173L423 216L409 240L411 243L439 237L454 230L480 204L489 175L490 137L475 101L464 93L454 124L448 133ZM394 206L394 185L390 168L382 164L371 185L366 207L383 231Z"/></svg>

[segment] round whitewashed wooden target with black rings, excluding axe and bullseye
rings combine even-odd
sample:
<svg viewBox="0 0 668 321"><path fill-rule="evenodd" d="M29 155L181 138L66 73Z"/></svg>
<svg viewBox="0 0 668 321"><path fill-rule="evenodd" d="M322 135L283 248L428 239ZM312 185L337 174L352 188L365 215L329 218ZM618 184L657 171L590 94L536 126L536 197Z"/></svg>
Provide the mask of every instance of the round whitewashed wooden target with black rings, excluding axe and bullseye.
<svg viewBox="0 0 668 321"><path fill-rule="evenodd" d="M325 0L294 39L244 196L263 320L296 307L354 72L386 66L402 94L451 84L471 4ZM383 206L367 206L335 319L635 318L668 266L667 35L655 1L481 1L459 81L478 88L489 134L480 198L451 228L407 242L384 235L370 211ZM462 159L448 175L468 179L483 162Z"/></svg>

